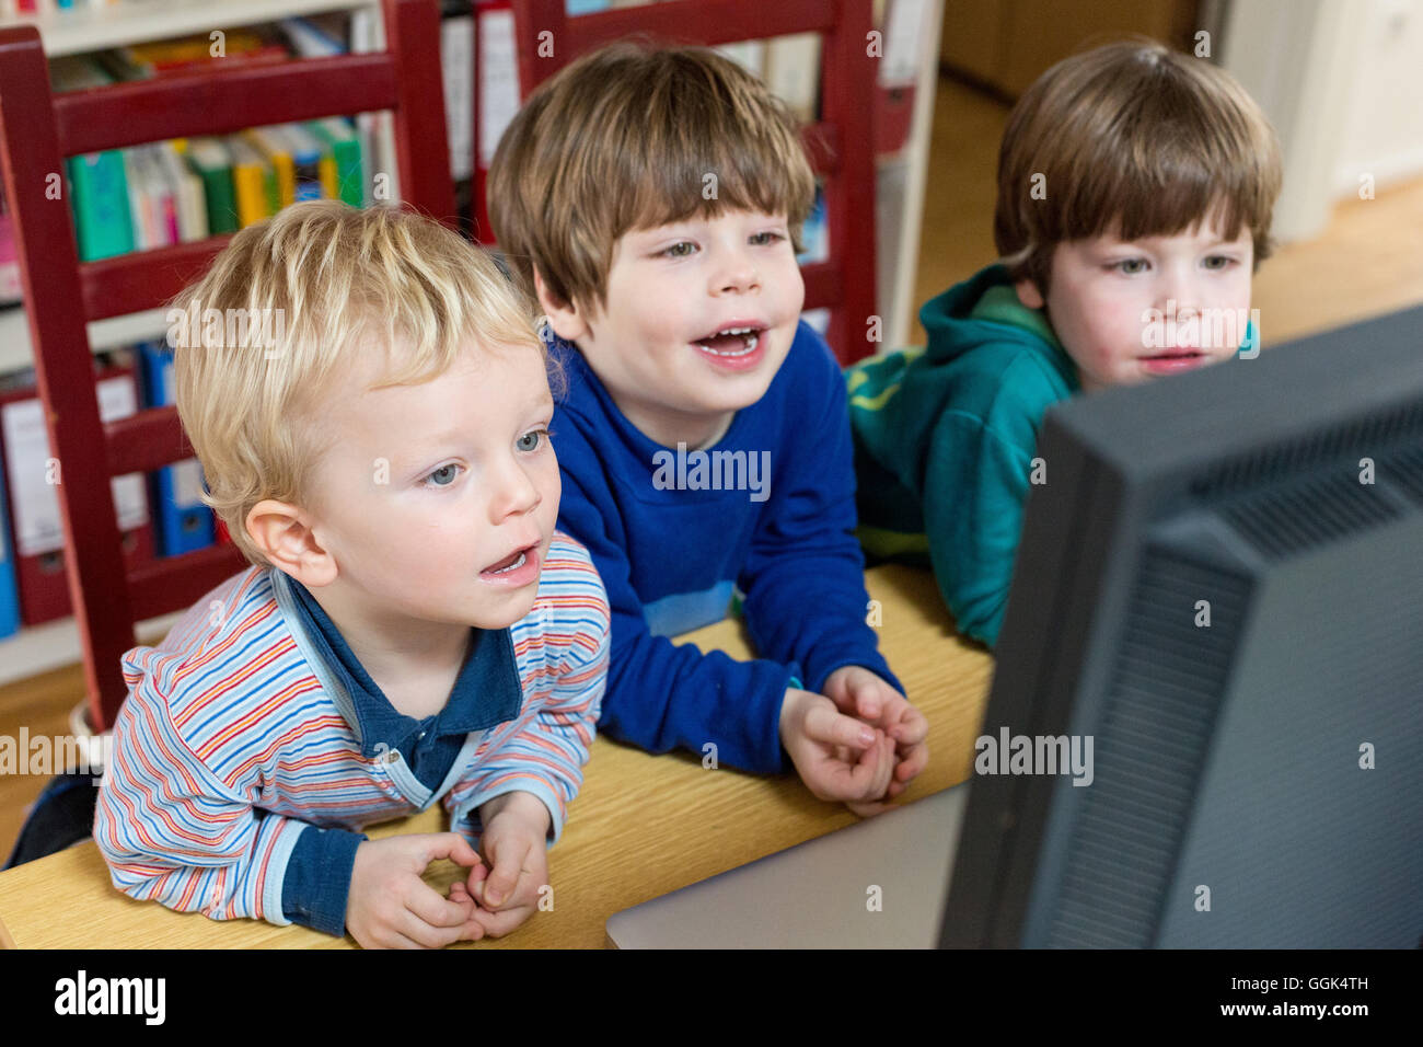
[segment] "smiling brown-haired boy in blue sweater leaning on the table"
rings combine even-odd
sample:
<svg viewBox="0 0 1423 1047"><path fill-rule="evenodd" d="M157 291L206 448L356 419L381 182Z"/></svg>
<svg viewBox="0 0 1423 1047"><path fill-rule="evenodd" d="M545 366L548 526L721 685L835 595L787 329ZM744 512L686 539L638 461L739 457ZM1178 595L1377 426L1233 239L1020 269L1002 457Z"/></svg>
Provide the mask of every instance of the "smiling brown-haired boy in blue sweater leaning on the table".
<svg viewBox="0 0 1423 1047"><path fill-rule="evenodd" d="M699 48L603 48L499 142L490 217L546 313L559 526L608 588L599 726L872 813L925 766L928 725L867 624L844 383L800 322L814 178L794 120ZM761 658L670 637L733 593Z"/></svg>

